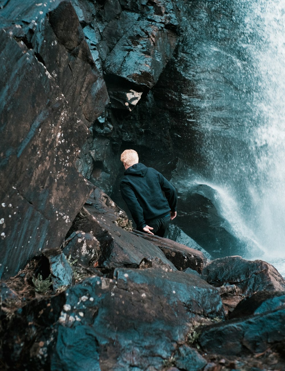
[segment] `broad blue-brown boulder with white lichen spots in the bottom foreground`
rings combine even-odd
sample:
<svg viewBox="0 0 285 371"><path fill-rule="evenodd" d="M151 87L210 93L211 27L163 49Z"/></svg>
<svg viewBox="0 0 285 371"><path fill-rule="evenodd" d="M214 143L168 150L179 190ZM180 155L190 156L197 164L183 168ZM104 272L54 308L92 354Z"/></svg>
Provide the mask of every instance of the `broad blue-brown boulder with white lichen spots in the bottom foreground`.
<svg viewBox="0 0 285 371"><path fill-rule="evenodd" d="M120 268L113 279L86 279L18 311L6 330L6 360L31 370L161 370L176 342L216 317L221 299L202 279Z"/></svg>

